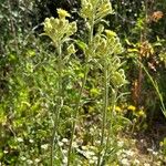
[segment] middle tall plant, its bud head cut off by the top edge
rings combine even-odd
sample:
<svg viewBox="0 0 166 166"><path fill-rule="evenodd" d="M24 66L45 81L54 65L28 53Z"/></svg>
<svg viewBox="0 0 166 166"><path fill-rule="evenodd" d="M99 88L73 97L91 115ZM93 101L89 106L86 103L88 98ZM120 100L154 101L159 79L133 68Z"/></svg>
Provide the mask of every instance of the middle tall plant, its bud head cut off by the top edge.
<svg viewBox="0 0 166 166"><path fill-rule="evenodd" d="M94 38L94 25L96 23L100 23L102 19L107 15L108 13L112 13L112 6L108 0L81 0L81 17L85 20L86 29L89 31L89 40L86 43L84 43L83 52L85 54L85 64L84 64L84 77L82 81L82 85L80 89L79 97L76 101L76 108L74 114L74 121L72 124L72 134L71 134L71 141L70 141L70 147L69 147L69 156L68 156L68 166L71 164L71 153L72 153L72 144L73 144L73 137L76 126L76 120L77 114L81 106L81 100L82 100L82 93L84 90L84 86L86 84L86 79L90 70L89 63L94 59L95 53L93 45L93 38Z"/></svg>

